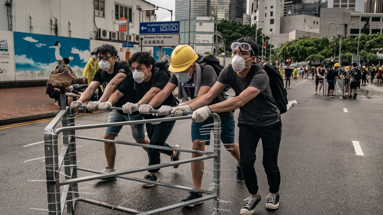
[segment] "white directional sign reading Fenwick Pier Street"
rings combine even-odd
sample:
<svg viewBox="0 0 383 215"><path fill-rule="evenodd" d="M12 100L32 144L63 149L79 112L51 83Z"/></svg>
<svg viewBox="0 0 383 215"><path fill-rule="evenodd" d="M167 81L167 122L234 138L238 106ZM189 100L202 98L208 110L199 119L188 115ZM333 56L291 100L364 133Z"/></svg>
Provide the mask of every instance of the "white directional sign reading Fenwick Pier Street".
<svg viewBox="0 0 383 215"><path fill-rule="evenodd" d="M140 46L178 46L180 34L140 34Z"/></svg>

